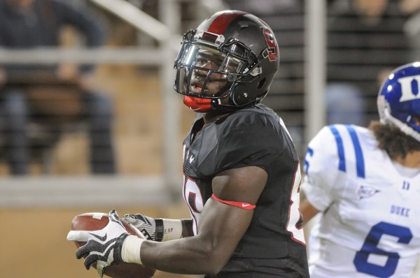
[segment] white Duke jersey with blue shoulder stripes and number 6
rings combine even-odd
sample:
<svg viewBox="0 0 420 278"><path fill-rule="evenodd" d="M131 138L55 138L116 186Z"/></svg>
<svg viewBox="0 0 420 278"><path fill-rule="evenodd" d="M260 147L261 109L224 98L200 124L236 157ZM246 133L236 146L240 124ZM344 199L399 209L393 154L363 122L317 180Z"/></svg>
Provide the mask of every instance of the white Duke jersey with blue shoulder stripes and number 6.
<svg viewBox="0 0 420 278"><path fill-rule="evenodd" d="M301 186L322 212L308 242L311 278L409 277L420 252L419 170L400 175L368 129L325 126Z"/></svg>

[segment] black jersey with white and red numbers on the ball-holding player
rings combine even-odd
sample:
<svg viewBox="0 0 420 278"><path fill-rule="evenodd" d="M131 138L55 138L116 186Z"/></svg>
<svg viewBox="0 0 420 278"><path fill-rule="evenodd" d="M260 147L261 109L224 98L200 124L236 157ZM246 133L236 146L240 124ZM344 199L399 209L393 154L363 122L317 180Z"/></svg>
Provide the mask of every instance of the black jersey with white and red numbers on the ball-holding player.
<svg viewBox="0 0 420 278"><path fill-rule="evenodd" d="M183 142L183 196L194 232L211 181L223 170L258 166L268 173L253 219L223 270L207 277L309 277L298 211L299 159L283 121L258 104L204 124L197 116Z"/></svg>

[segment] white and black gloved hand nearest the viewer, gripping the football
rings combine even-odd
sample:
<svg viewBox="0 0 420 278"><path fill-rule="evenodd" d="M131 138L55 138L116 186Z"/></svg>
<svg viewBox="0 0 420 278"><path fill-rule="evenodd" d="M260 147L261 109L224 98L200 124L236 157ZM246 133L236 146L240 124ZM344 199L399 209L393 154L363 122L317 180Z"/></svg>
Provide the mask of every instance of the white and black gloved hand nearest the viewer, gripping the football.
<svg viewBox="0 0 420 278"><path fill-rule="evenodd" d="M99 276L104 275L108 265L123 263L121 249L125 238L129 235L120 221L116 210L109 212L109 223L98 231L70 231L67 240L87 242L76 250L77 258L85 258L85 268L97 263Z"/></svg>

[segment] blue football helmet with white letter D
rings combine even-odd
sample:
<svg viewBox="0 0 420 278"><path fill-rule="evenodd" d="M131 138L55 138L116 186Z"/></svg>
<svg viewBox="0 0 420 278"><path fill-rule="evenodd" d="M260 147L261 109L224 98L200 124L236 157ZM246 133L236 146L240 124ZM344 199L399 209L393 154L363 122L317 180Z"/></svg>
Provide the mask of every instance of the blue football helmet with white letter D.
<svg viewBox="0 0 420 278"><path fill-rule="evenodd" d="M395 68L377 99L382 124L397 126L420 142L420 61Z"/></svg>

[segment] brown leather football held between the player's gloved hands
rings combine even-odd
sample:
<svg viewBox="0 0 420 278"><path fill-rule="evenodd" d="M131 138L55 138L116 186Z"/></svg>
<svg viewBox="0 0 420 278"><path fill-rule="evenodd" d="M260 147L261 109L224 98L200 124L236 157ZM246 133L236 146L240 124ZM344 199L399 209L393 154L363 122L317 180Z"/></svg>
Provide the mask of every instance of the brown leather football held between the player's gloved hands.
<svg viewBox="0 0 420 278"><path fill-rule="evenodd" d="M142 239L146 239L140 231L125 219L120 219L127 229L128 233L137 235ZM71 230L73 231L95 231L101 230L108 224L108 214L102 212L89 212L79 214L73 217L71 221ZM86 242L75 241L76 247L81 247ZM93 265L95 268L96 265ZM119 265L109 265L104 268L104 275L112 278L149 278L155 275L155 269L137 263L120 263Z"/></svg>

